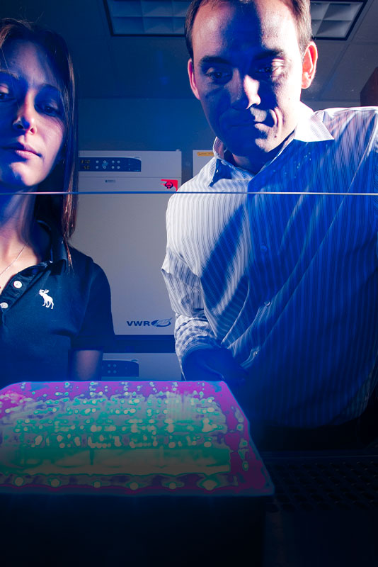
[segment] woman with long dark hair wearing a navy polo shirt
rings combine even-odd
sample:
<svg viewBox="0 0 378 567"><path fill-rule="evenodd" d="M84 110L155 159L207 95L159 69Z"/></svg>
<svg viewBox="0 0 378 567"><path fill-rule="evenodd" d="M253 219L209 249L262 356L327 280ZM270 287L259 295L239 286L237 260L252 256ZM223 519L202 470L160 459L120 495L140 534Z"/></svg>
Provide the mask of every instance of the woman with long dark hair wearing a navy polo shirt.
<svg viewBox="0 0 378 567"><path fill-rule="evenodd" d="M91 380L113 335L110 290L75 228L71 57L49 30L0 21L0 387ZM64 194L35 194L56 191Z"/></svg>

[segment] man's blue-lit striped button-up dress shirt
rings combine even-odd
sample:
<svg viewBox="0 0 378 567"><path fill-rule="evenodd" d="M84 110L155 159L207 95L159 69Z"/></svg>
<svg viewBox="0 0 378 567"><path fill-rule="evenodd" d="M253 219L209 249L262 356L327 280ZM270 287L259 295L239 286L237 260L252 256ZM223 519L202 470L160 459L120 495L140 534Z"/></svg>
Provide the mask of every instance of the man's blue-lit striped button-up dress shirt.
<svg viewBox="0 0 378 567"><path fill-rule="evenodd" d="M162 271L178 357L230 349L256 419L353 419L377 383L378 108L301 104L256 175L224 152L215 140L215 157L168 203Z"/></svg>

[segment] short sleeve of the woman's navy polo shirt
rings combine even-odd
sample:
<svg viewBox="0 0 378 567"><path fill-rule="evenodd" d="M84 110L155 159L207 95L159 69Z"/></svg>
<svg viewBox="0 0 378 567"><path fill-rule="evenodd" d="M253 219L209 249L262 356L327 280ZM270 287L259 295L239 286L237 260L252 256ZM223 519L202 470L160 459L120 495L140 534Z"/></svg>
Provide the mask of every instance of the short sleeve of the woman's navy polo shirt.
<svg viewBox="0 0 378 567"><path fill-rule="evenodd" d="M103 269L93 264L93 274L81 328L73 349L104 350L114 338L110 286Z"/></svg>

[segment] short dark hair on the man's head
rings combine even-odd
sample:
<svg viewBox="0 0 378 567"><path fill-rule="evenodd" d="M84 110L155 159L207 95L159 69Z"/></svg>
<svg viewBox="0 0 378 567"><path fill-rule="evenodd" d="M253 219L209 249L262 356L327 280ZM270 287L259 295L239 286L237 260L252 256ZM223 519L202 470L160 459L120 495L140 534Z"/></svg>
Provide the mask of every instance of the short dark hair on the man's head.
<svg viewBox="0 0 378 567"><path fill-rule="evenodd" d="M304 55L307 45L309 45L312 36L311 30L311 14L310 14L310 0L282 0L293 13L295 23L297 25L297 35L299 50ZM205 4L210 4L211 6L217 6L219 4L235 4L236 6L248 6L248 4L253 4L253 0L192 0L188 11L186 13L185 19L185 41L186 47L188 47L188 52L193 59L193 23L195 21L195 16L197 11L201 6Z"/></svg>

